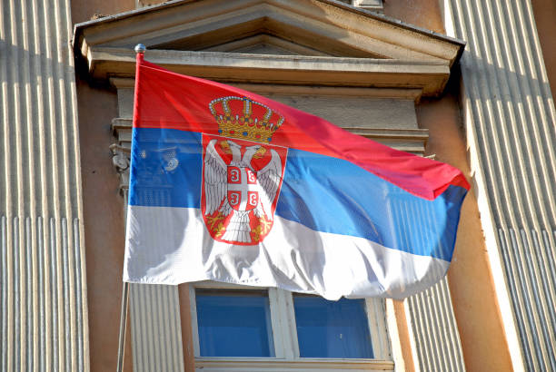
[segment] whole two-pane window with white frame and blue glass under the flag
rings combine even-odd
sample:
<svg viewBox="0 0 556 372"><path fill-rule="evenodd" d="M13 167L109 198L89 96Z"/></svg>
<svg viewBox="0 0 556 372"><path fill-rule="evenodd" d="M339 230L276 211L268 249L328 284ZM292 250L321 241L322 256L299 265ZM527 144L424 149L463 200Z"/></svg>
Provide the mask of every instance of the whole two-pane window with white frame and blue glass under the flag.
<svg viewBox="0 0 556 372"><path fill-rule="evenodd" d="M382 299L340 299L231 284L190 286L197 368L392 370Z"/></svg>

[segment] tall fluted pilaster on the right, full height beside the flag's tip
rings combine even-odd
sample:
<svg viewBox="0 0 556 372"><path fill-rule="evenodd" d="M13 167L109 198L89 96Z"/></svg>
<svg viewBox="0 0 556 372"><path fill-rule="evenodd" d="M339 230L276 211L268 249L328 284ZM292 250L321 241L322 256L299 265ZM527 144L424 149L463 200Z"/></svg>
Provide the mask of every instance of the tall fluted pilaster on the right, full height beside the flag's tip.
<svg viewBox="0 0 556 372"><path fill-rule="evenodd" d="M521 348L517 362L520 350L511 350L514 366L556 370L556 113L531 3L444 4L448 32L468 42L461 64L472 171L487 243L500 252L507 295L499 299Z"/></svg>

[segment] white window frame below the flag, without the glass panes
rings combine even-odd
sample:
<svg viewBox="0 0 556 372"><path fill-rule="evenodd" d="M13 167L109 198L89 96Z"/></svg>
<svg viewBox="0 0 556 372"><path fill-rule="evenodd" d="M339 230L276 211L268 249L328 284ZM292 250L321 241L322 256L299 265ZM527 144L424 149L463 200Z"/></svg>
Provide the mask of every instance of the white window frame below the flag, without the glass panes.
<svg viewBox="0 0 556 372"><path fill-rule="evenodd" d="M268 290L275 357L201 357L195 289ZM292 292L284 289L247 287L235 284L202 281L190 283L192 333L195 369L216 371L321 371L393 370L392 353L386 326L383 299L365 299L365 309L371 333L372 359L300 357L297 328L293 312Z"/></svg>

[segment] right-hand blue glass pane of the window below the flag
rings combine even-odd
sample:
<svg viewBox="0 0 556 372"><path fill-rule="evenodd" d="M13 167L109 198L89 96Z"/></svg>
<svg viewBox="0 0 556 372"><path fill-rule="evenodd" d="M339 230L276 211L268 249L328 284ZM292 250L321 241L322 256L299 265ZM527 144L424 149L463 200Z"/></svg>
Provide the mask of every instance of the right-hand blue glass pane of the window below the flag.
<svg viewBox="0 0 556 372"><path fill-rule="evenodd" d="M293 296L301 357L372 357L364 299Z"/></svg>

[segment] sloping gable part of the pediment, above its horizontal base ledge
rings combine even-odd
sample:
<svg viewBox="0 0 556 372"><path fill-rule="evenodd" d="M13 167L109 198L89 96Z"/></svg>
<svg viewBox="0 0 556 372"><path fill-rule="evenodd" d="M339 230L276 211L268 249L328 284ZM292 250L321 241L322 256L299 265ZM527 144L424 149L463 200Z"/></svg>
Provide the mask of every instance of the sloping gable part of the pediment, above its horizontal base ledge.
<svg viewBox="0 0 556 372"><path fill-rule="evenodd" d="M78 24L76 32L98 46L224 51L266 37L258 52L405 60L453 60L460 46L333 0L182 0Z"/></svg>

